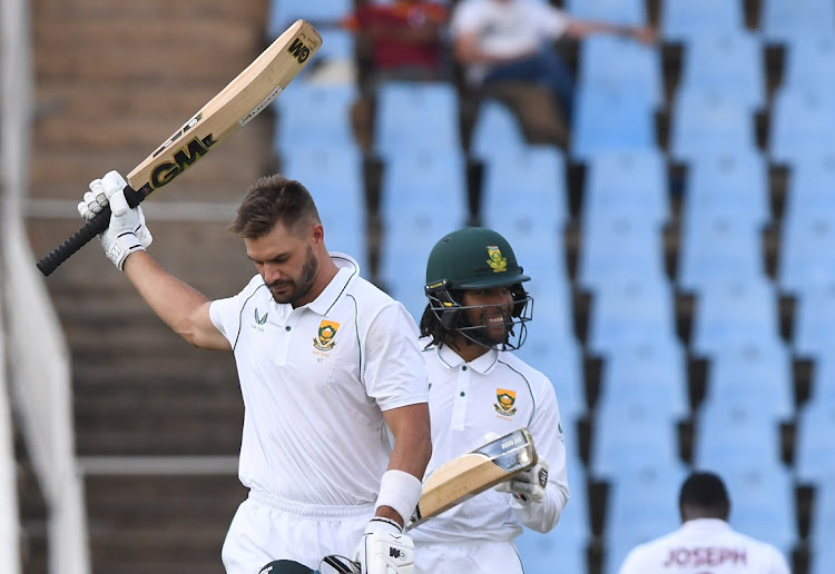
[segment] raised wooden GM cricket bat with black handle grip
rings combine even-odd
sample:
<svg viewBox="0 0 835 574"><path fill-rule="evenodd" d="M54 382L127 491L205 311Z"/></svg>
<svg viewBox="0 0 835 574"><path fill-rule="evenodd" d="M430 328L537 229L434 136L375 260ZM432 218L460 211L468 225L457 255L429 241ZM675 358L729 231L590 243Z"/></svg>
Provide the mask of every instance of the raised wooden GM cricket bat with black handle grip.
<svg viewBox="0 0 835 574"><path fill-rule="evenodd" d="M171 182L197 160L246 126L302 71L322 46L322 37L304 20L287 28L261 56L212 98L188 121L128 174L125 197L138 206L154 190ZM107 229L110 209L105 208L63 244L38 261L46 276Z"/></svg>

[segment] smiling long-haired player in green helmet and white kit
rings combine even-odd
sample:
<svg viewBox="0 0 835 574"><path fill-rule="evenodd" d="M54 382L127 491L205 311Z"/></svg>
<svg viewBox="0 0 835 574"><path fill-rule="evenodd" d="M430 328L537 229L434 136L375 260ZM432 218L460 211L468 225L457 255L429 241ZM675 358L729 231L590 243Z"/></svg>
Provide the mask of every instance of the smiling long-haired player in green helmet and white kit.
<svg viewBox="0 0 835 574"><path fill-rule="evenodd" d="M470 227L429 256L420 329L429 369L431 474L484 442L528 427L538 464L410 531L415 574L522 574L513 538L554 527L569 498L566 446L550 380L510 350L524 340L531 298L500 234Z"/></svg>

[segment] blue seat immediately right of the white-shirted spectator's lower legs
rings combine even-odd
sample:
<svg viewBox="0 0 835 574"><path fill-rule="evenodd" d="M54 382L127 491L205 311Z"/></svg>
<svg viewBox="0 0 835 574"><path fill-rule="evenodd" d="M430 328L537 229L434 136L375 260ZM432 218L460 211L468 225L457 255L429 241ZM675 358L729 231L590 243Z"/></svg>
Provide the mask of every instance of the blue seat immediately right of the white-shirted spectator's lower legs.
<svg viewBox="0 0 835 574"><path fill-rule="evenodd" d="M642 88L580 85L576 90L571 156L657 149L655 105Z"/></svg>

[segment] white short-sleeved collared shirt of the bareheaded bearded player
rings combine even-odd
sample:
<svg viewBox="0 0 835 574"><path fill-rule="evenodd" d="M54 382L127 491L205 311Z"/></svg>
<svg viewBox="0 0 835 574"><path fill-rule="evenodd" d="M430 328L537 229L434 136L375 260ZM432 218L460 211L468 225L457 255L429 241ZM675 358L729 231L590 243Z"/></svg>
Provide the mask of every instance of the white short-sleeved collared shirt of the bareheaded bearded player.
<svg viewBox="0 0 835 574"><path fill-rule="evenodd" d="M307 305L276 303L256 275L210 316L244 398L240 482L302 503L367 504L391 456L383 410L425 403L426 373L405 308L352 258L331 257L340 269Z"/></svg>

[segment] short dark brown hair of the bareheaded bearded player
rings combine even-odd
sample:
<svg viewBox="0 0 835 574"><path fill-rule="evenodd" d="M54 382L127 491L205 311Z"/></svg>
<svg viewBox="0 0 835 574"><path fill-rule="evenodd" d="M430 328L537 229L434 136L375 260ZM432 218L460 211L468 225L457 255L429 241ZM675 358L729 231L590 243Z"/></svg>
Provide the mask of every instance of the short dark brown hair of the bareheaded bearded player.
<svg viewBox="0 0 835 574"><path fill-rule="evenodd" d="M273 230L277 222L287 229L301 222L318 224L316 204L302 184L279 175L256 179L238 207L229 230L244 239L255 239Z"/></svg>

